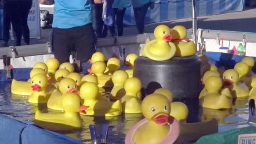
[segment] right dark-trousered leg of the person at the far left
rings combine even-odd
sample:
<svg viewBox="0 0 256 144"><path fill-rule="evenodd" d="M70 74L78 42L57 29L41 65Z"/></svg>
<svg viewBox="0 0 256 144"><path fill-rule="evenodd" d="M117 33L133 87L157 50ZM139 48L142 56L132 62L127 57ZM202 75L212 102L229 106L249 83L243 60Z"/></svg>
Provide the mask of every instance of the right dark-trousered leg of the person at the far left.
<svg viewBox="0 0 256 144"><path fill-rule="evenodd" d="M32 6L32 1L22 2L21 4L21 30L24 41L27 45L30 44L30 28L27 26L27 16L30 13L30 9Z"/></svg>

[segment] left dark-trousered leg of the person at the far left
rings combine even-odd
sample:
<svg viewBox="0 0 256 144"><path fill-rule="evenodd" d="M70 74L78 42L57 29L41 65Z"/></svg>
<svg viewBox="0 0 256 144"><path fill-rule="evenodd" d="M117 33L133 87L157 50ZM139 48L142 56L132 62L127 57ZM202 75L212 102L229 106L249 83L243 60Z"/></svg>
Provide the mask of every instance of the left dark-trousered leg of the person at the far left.
<svg viewBox="0 0 256 144"><path fill-rule="evenodd" d="M8 11L10 14L11 25L13 25L15 45L21 45L21 22L20 22L20 2L10 1L8 2L10 5ZM22 2L21 2L22 3Z"/></svg>

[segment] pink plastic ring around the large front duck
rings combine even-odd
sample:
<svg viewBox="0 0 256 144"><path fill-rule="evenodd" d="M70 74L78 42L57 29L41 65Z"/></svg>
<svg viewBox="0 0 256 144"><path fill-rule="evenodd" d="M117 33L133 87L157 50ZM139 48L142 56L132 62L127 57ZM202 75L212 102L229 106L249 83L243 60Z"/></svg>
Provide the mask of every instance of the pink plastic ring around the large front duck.
<svg viewBox="0 0 256 144"><path fill-rule="evenodd" d="M133 134L139 127L141 127L142 124L147 123L147 122L148 122L148 119L143 118L141 121L136 123L126 134L125 144L135 144L132 140ZM169 125L170 125L170 131L169 131L167 137L164 140L162 140L161 142L159 142L158 144L170 144L170 143L174 143L177 140L177 138L179 136L179 132L180 132L179 122L175 118L170 116Z"/></svg>

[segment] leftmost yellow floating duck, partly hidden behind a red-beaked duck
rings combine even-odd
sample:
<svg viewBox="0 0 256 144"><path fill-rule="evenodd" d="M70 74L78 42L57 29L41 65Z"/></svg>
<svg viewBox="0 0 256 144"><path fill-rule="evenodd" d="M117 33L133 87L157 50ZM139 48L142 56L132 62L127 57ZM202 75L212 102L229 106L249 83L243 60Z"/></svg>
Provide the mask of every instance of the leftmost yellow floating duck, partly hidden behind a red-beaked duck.
<svg viewBox="0 0 256 144"><path fill-rule="evenodd" d="M44 74L45 71L41 68L34 68L30 71L30 79L28 81L11 81L11 93L16 95L31 95L33 93L31 89L31 77L36 74Z"/></svg>

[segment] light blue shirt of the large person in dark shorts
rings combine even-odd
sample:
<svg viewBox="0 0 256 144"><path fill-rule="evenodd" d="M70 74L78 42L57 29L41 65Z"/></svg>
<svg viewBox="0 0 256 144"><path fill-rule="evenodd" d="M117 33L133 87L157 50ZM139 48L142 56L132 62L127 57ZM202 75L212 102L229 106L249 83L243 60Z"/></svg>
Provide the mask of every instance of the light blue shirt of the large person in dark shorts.
<svg viewBox="0 0 256 144"><path fill-rule="evenodd" d="M72 28L92 23L90 0L54 0L53 27Z"/></svg>

